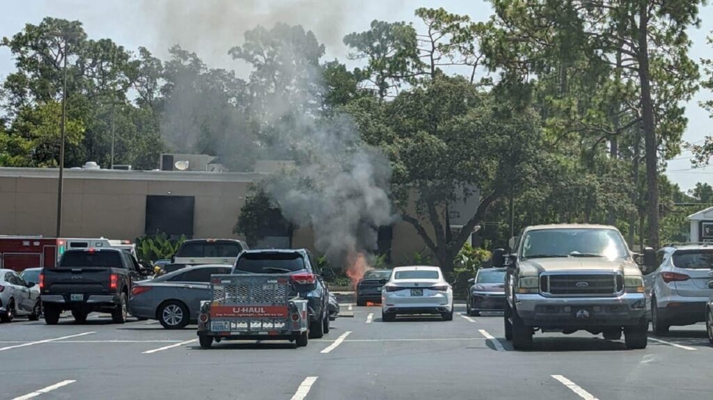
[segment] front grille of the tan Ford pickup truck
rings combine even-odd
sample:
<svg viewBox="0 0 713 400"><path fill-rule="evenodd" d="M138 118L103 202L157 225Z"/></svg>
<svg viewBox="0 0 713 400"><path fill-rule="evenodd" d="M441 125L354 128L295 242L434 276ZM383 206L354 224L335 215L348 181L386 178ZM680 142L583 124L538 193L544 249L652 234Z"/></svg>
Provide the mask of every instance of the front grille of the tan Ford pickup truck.
<svg viewBox="0 0 713 400"><path fill-rule="evenodd" d="M612 296L624 289L618 273L553 273L540 277L540 290L553 296Z"/></svg>

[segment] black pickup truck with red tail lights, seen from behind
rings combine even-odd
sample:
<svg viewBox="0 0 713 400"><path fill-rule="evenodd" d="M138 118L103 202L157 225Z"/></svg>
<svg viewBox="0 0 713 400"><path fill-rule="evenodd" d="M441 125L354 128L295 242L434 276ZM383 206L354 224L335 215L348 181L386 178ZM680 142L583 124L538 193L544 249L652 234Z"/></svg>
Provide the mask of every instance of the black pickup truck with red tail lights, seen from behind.
<svg viewBox="0 0 713 400"><path fill-rule="evenodd" d="M133 283L145 274L130 253L116 248L66 251L56 268L43 268L40 295L44 320L54 325L70 310L78 323L90 312L111 312L123 324Z"/></svg>

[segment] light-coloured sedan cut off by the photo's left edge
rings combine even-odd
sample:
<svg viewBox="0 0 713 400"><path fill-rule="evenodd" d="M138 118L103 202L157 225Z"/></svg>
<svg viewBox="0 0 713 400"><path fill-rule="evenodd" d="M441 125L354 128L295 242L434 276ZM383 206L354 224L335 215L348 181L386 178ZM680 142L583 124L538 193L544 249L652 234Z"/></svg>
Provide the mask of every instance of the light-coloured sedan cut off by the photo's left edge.
<svg viewBox="0 0 713 400"><path fill-rule="evenodd" d="M11 322L19 315L26 315L31 321L39 320L40 293L34 286L34 283L26 283L14 270L0 270L1 322Z"/></svg>

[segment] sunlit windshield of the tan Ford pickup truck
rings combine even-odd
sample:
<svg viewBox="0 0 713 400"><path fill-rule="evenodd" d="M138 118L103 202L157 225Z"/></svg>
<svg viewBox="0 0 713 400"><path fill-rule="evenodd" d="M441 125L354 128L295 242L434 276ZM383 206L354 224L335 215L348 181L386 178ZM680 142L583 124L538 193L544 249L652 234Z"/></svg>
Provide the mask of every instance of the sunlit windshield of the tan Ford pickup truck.
<svg viewBox="0 0 713 400"><path fill-rule="evenodd" d="M614 229L558 228L525 233L523 258L628 256L626 243Z"/></svg>

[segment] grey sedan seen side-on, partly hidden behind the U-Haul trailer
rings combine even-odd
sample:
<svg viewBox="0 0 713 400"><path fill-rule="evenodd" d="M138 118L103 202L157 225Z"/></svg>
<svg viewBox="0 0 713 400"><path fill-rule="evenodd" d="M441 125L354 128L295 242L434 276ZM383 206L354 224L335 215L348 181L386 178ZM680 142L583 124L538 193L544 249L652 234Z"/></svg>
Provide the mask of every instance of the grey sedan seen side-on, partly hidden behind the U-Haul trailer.
<svg viewBox="0 0 713 400"><path fill-rule="evenodd" d="M210 300L210 275L230 273L232 265L196 265L135 283L129 312L158 320L166 329L182 329L198 318L202 300Z"/></svg>

